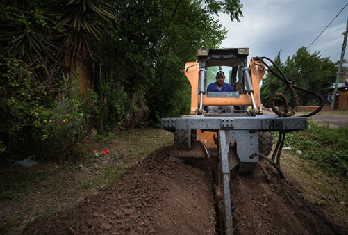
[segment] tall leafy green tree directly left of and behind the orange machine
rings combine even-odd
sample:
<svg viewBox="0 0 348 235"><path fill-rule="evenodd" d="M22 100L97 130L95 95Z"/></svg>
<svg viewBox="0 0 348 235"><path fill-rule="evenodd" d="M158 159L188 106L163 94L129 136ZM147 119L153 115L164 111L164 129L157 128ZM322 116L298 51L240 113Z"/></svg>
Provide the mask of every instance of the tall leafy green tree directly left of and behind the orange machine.
<svg viewBox="0 0 348 235"><path fill-rule="evenodd" d="M225 38L226 29L213 14L230 13L239 20L241 8L238 0L116 1L119 20L105 43L129 65L128 92L136 107L131 113L143 111L158 120L183 112L189 83L179 70L196 59L197 49L216 48Z"/></svg>

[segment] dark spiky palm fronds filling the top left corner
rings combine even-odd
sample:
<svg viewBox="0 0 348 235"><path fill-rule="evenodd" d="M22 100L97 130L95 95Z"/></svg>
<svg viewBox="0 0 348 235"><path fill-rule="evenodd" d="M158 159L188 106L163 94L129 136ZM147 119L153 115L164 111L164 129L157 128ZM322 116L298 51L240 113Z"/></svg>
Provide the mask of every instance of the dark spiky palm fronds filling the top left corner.
<svg viewBox="0 0 348 235"><path fill-rule="evenodd" d="M51 29L34 1L5 1L0 7L1 53L26 63L54 59Z"/></svg>

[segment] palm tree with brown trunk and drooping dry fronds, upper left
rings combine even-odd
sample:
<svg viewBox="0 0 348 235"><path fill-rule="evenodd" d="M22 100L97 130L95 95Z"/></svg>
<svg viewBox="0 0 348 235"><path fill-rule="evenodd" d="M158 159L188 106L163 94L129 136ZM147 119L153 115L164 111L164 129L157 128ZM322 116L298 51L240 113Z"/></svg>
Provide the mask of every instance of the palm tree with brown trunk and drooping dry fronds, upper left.
<svg viewBox="0 0 348 235"><path fill-rule="evenodd" d="M76 70L80 73L81 90L94 86L93 57L90 51L91 35L99 40L104 33L103 22L116 19L111 6L103 0L53 0L52 10L61 17L67 33L63 35L59 58L65 76Z"/></svg>

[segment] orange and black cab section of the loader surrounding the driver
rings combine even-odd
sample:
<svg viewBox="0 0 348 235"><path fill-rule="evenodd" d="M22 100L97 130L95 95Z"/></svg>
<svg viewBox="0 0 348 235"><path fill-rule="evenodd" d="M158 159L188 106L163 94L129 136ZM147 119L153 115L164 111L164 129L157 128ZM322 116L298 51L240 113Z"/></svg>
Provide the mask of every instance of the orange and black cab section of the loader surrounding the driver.
<svg viewBox="0 0 348 235"><path fill-rule="evenodd" d="M242 110L252 106L262 112L259 84L266 69L253 59L248 68L248 55L249 48L198 50L197 62L186 63L184 70L192 86L191 115L204 114L204 106L238 106ZM233 92L206 92L219 70L224 70L225 82L233 87Z"/></svg>

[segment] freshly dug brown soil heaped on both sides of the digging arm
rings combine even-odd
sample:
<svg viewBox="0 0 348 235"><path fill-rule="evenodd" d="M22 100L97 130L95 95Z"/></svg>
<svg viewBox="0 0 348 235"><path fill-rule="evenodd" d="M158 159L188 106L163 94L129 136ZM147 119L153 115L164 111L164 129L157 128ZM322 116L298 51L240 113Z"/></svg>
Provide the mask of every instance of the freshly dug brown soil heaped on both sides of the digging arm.
<svg viewBox="0 0 348 235"><path fill-rule="evenodd" d="M162 147L128 174L22 234L221 234L211 164L168 161ZM231 175L234 234L345 234L267 163Z"/></svg>

